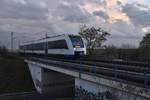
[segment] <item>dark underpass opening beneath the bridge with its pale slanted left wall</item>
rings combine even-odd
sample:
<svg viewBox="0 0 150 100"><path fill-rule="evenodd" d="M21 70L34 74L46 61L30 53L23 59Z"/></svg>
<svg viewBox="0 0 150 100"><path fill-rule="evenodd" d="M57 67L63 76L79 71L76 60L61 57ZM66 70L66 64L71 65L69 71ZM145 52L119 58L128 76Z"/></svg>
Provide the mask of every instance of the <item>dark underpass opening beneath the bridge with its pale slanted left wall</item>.
<svg viewBox="0 0 150 100"><path fill-rule="evenodd" d="M36 64L28 64L36 90L50 97L74 95L74 78Z"/></svg>

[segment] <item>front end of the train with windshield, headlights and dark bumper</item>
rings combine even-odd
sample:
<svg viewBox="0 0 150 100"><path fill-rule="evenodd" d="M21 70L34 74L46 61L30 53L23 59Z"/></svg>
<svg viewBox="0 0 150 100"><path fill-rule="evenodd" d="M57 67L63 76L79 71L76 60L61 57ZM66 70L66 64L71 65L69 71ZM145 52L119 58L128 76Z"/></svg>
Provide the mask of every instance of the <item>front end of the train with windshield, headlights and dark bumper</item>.
<svg viewBox="0 0 150 100"><path fill-rule="evenodd" d="M75 56L84 56L86 55L86 45L79 35L70 35L69 36L72 46L74 48Z"/></svg>

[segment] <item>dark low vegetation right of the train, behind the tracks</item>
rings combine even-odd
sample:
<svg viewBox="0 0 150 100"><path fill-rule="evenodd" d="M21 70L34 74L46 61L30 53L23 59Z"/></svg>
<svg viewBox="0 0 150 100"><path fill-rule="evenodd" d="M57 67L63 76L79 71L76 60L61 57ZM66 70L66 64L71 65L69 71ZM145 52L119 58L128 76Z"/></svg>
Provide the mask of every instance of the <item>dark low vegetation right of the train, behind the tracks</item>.
<svg viewBox="0 0 150 100"><path fill-rule="evenodd" d="M106 49L94 49L92 55L88 55L89 59L122 59L126 61L150 61L150 49L119 49L119 48L106 48Z"/></svg>

